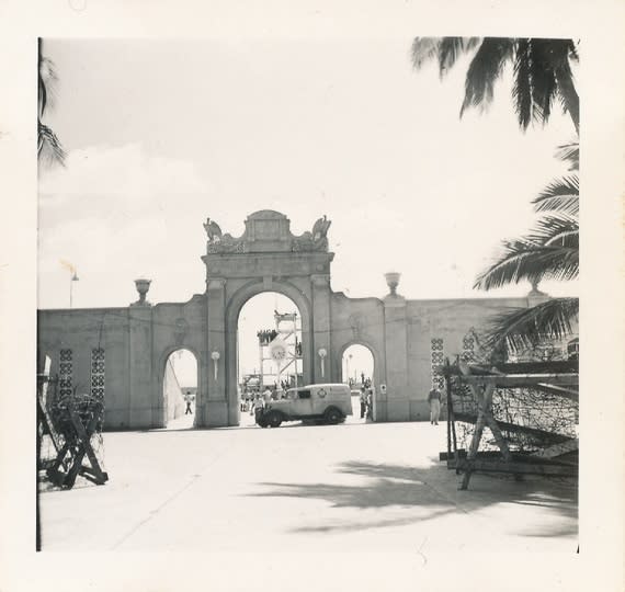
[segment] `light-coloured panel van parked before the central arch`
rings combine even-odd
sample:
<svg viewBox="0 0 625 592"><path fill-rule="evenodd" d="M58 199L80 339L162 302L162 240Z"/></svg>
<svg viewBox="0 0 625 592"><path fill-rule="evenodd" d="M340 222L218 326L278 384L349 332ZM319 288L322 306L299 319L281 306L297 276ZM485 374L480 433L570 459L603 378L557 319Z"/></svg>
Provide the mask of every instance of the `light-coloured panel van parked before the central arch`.
<svg viewBox="0 0 625 592"><path fill-rule="evenodd" d="M269 401L255 410L255 421L261 428L279 428L283 421L322 420L341 423L351 415L350 387L342 384L308 385L291 388L286 398Z"/></svg>

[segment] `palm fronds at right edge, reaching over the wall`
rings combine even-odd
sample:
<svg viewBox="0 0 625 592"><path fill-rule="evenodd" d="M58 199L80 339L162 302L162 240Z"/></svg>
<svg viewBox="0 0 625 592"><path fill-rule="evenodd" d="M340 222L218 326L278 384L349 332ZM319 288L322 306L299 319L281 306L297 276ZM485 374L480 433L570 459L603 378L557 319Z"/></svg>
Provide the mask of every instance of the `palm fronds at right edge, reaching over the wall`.
<svg viewBox="0 0 625 592"><path fill-rule="evenodd" d="M476 283L492 289L527 280L534 288L543 280L570 281L579 274L579 147L561 146L559 155L572 172L552 182L533 201L541 214L536 228L520 239L504 241L500 258ZM579 314L577 298L550 298L531 308L495 316L487 337L490 346L505 343L516 351L544 339L561 339L572 332Z"/></svg>

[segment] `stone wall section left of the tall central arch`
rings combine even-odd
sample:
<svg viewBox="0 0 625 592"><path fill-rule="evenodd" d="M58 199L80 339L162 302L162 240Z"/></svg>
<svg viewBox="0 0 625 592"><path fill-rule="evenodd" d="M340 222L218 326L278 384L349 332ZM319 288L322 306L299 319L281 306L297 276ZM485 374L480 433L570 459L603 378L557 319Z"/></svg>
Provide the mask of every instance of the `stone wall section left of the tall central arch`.
<svg viewBox="0 0 625 592"><path fill-rule="evenodd" d="M38 371L48 355L50 375L66 386L103 389L107 430L166 425L163 379L175 350L196 356L200 391L206 382L203 296L154 307L41 310L37 320ZM201 397L196 406L202 410Z"/></svg>

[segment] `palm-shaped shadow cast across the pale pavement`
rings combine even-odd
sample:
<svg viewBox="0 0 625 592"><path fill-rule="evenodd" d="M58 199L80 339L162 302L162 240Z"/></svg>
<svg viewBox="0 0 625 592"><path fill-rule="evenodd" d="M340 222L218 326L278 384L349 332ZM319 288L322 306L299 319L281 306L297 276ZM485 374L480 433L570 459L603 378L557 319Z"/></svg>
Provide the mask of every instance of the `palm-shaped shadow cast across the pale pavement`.
<svg viewBox="0 0 625 592"><path fill-rule="evenodd" d="M438 462L436 462L438 463ZM457 490L454 471L441 464L430 467L402 465L374 465L349 462L339 465L338 474L357 475L366 478L359 485L333 483L281 483L260 482L266 491L251 493L268 498L310 498L325 500L333 508L382 509L431 508L430 512L382 521L318 524L295 528L294 532L349 532L386 526L401 526L440 517L450 513L470 514L495 504L521 504L541 506L550 517L559 517L549 526L545 521L539 531L522 530L522 536L570 536L578 532L577 482L575 480L548 479L543 477L514 481L508 476L475 474L471 489ZM565 519L565 520L561 520Z"/></svg>

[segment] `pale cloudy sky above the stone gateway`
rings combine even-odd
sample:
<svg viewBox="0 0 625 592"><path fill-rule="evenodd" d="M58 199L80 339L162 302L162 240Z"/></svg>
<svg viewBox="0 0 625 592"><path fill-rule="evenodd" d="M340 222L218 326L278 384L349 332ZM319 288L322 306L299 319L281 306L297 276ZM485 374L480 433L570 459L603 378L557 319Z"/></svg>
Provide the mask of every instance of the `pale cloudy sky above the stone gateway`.
<svg viewBox="0 0 625 592"><path fill-rule="evenodd" d="M152 303L185 301L204 292L206 217L238 236L264 208L295 234L332 220L334 291L384 296L399 271L408 298L485 296L476 275L530 228L575 130L556 113L522 133L509 76L459 119L466 59L441 81L410 44L46 39L68 158L39 178L39 307L69 304L60 260L75 307L126 306L138 276Z"/></svg>

